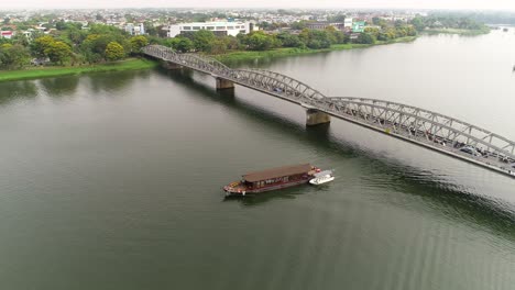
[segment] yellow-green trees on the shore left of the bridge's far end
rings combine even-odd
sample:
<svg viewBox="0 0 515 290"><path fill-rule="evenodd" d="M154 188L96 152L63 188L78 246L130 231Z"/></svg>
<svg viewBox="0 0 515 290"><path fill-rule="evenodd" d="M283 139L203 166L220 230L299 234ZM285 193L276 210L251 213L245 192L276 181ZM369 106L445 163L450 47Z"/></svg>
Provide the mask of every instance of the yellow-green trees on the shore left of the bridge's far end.
<svg viewBox="0 0 515 290"><path fill-rule="evenodd" d="M58 22L51 34L35 32L32 41L23 34L0 38L0 69L30 65L85 65L123 59L149 44L143 35L131 36L118 27Z"/></svg>

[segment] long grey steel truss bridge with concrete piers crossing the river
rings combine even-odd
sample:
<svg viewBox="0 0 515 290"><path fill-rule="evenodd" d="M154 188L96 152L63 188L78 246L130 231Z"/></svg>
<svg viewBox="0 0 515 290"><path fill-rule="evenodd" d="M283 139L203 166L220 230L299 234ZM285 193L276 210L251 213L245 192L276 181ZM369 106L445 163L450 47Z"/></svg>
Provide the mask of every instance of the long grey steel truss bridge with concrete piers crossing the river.
<svg viewBox="0 0 515 290"><path fill-rule="evenodd" d="M234 83L306 108L306 124L338 118L425 148L515 178L515 142L485 129L421 108L376 99L328 97L292 77L262 69L233 69L208 56L179 54L161 45L143 47L169 69L209 74L217 90Z"/></svg>

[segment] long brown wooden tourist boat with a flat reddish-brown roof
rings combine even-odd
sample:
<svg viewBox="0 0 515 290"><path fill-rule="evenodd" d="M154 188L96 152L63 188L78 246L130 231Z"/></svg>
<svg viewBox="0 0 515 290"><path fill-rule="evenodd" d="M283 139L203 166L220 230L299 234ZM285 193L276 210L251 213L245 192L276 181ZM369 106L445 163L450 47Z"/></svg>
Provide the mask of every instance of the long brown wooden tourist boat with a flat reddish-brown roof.
<svg viewBox="0 0 515 290"><path fill-rule="evenodd" d="M320 169L310 164L291 165L250 172L223 187L226 196L245 196L309 182Z"/></svg>

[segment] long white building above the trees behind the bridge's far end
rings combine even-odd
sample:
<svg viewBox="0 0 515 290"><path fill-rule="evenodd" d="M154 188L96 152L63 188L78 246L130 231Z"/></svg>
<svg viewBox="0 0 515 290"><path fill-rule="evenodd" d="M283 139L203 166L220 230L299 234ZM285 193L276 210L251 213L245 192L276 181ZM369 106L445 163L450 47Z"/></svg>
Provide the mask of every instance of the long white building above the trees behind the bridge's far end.
<svg viewBox="0 0 515 290"><path fill-rule="evenodd" d="M168 37L199 30L212 31L217 35L237 36L239 33L248 34L253 30L250 22L193 22L178 23L168 26Z"/></svg>

